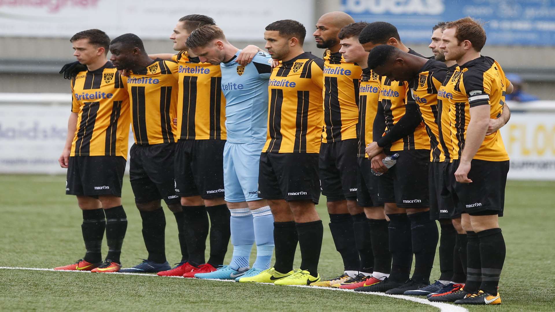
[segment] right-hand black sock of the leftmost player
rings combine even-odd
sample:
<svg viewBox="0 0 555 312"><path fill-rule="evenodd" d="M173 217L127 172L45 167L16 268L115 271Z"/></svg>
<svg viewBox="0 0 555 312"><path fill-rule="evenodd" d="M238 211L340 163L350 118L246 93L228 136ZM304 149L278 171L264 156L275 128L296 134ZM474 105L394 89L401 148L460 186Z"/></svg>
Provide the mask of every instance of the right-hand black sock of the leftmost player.
<svg viewBox="0 0 555 312"><path fill-rule="evenodd" d="M106 214L106 241L108 243L106 260L121 263L119 255L122 254L123 239L127 231L127 215L123 206L104 209L104 213Z"/></svg>

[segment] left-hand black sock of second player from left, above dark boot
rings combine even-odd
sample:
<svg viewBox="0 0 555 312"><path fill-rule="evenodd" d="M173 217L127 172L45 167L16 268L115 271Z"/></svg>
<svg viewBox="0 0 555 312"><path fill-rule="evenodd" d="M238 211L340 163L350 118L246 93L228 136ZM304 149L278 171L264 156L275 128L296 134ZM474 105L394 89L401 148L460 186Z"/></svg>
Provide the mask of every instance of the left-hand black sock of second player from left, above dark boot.
<svg viewBox="0 0 555 312"><path fill-rule="evenodd" d="M140 212L143 219L143 239L147 247L148 260L155 263L166 261L166 217L162 207L152 212Z"/></svg>

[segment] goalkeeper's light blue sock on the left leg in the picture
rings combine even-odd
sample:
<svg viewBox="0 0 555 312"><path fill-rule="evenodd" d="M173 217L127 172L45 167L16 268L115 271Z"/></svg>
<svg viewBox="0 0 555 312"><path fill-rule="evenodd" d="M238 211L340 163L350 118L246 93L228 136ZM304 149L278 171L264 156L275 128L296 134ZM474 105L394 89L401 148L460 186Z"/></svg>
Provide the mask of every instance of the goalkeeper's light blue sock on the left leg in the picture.
<svg viewBox="0 0 555 312"><path fill-rule="evenodd" d="M253 215L249 208L229 209L233 258L229 267L234 270L249 268L250 250L254 244Z"/></svg>

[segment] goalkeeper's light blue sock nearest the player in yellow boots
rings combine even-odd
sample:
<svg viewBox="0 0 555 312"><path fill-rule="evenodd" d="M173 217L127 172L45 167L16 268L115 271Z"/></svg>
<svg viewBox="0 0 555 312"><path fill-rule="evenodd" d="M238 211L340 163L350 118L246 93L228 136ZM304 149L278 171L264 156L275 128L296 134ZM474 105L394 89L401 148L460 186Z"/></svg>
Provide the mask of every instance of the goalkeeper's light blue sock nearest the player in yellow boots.
<svg viewBox="0 0 555 312"><path fill-rule="evenodd" d="M270 206L252 210L254 237L256 240L256 261L253 268L266 270L274 253L274 216Z"/></svg>

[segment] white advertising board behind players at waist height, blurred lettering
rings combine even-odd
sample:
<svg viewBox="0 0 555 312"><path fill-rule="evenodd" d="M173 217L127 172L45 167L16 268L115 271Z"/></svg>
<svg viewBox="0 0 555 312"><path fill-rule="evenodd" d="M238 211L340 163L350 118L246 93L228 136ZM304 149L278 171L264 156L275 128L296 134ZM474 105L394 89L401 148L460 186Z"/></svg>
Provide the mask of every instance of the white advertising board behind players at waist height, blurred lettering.
<svg viewBox="0 0 555 312"><path fill-rule="evenodd" d="M67 132L68 97L0 94L0 173L65 174L58 158ZM555 180L555 102L509 106L511 120L501 128L511 158L508 179Z"/></svg>

